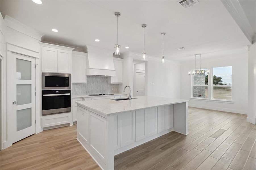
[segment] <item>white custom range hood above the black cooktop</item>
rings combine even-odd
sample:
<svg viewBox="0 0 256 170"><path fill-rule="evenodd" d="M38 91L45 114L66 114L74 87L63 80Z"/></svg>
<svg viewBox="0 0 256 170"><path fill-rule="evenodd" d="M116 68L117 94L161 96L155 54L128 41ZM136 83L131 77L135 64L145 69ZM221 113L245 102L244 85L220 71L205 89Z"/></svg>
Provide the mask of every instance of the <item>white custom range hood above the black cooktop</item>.
<svg viewBox="0 0 256 170"><path fill-rule="evenodd" d="M115 76L116 70L113 62L113 51L87 46L87 69L88 76Z"/></svg>

